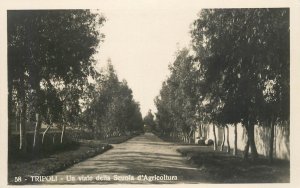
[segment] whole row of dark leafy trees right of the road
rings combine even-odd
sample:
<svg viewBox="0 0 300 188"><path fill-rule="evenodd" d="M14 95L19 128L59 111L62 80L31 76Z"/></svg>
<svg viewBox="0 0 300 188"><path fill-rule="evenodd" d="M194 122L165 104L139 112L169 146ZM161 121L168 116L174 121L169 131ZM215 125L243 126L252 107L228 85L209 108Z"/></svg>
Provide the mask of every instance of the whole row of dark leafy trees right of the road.
<svg viewBox="0 0 300 188"><path fill-rule="evenodd" d="M289 9L205 9L191 37L155 99L155 131L188 142L197 126L241 123L255 159L254 125L267 126L272 160L274 126L289 125Z"/></svg>

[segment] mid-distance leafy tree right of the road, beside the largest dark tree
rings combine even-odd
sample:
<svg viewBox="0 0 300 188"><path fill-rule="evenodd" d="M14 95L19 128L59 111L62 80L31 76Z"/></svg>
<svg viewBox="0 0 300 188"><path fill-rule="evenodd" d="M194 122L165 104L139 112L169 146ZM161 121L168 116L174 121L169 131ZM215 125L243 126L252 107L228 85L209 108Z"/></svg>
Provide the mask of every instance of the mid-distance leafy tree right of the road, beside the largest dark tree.
<svg viewBox="0 0 300 188"><path fill-rule="evenodd" d="M163 83L160 96L155 100L158 110L156 116L158 123L165 124L166 128L170 126L169 123L173 124L171 126L176 134L182 133L182 139L188 142L196 129L197 103L196 70L188 49L176 53L169 70L170 77ZM162 106L163 103L166 103L165 106Z"/></svg>

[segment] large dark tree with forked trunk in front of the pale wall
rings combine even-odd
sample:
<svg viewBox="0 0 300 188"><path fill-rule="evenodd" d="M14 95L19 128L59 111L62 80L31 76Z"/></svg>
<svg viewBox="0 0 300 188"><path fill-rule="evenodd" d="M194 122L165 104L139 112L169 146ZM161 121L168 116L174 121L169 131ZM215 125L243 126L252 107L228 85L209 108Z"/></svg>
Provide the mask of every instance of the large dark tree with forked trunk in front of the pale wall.
<svg viewBox="0 0 300 188"><path fill-rule="evenodd" d="M220 114L235 113L225 122L242 122L246 128L245 158L249 147L257 157L254 125L264 117L261 109L267 83L276 82L288 96L288 31L287 9L206 9L194 22L196 59L201 62L206 85L216 86L207 93L223 101ZM275 74L281 81L275 81ZM276 101L282 101L285 107L279 109L283 110L289 102L288 97L282 99Z"/></svg>

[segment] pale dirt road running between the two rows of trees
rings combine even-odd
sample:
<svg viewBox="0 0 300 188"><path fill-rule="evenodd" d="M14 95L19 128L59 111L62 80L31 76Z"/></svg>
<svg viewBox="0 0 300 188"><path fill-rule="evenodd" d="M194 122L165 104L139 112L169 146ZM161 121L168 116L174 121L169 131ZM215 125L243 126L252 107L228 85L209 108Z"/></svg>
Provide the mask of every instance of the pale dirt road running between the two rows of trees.
<svg viewBox="0 0 300 188"><path fill-rule="evenodd" d="M176 152L179 146L151 133L137 136L109 151L54 174L55 183L203 183L201 170Z"/></svg>

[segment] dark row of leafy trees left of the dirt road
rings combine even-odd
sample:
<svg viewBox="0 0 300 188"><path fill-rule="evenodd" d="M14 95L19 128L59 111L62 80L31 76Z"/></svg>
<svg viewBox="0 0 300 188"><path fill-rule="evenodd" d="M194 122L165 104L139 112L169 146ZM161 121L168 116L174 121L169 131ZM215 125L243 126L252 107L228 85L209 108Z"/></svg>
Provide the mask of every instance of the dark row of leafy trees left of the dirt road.
<svg viewBox="0 0 300 188"><path fill-rule="evenodd" d="M7 17L9 144L14 130L24 153L37 151L51 127L61 131L60 143L72 130L96 139L142 131L139 104L126 81L118 80L111 64L103 72L94 68L103 16L89 10L10 10Z"/></svg>

